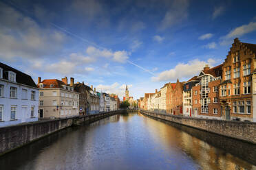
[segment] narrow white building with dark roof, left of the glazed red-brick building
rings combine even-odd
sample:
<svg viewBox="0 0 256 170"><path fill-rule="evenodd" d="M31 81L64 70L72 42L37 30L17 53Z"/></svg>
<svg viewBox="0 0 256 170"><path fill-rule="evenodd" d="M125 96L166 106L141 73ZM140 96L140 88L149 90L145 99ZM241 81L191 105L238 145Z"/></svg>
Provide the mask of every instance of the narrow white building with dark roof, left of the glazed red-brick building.
<svg viewBox="0 0 256 170"><path fill-rule="evenodd" d="M189 81L183 84L183 115L189 117L195 117L192 112L192 87L198 84L198 76L192 77Z"/></svg>

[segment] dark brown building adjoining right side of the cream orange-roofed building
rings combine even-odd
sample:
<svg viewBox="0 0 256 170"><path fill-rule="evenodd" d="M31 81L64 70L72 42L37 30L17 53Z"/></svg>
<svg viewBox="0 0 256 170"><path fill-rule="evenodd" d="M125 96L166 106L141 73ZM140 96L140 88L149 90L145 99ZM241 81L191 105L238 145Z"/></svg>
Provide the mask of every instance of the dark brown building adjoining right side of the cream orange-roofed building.
<svg viewBox="0 0 256 170"><path fill-rule="evenodd" d="M72 78L70 78L72 79ZM74 82L74 80L72 80ZM71 82L72 82L71 81ZM89 114L90 110L90 95L89 91L92 90L89 86L86 86L85 83L79 83L73 85L74 90L79 93L79 114Z"/></svg>

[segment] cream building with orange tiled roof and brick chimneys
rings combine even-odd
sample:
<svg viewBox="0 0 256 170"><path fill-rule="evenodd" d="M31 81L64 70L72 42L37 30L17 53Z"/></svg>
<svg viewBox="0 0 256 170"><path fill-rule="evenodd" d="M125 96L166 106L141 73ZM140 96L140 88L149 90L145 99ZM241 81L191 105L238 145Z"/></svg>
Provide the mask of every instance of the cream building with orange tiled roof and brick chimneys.
<svg viewBox="0 0 256 170"><path fill-rule="evenodd" d="M74 79L67 84L67 77L62 80L43 80L38 78L39 117L63 118L79 115L79 93L74 91Z"/></svg>

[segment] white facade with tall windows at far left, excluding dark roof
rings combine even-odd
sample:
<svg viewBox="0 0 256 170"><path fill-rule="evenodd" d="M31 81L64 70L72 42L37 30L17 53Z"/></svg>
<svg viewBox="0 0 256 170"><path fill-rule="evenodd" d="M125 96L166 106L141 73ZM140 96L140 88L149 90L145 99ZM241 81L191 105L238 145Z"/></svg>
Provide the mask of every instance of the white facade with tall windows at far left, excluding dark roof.
<svg viewBox="0 0 256 170"><path fill-rule="evenodd" d="M19 84L16 78L14 81L5 80L2 73L3 71L0 76L0 127L38 121L39 89Z"/></svg>

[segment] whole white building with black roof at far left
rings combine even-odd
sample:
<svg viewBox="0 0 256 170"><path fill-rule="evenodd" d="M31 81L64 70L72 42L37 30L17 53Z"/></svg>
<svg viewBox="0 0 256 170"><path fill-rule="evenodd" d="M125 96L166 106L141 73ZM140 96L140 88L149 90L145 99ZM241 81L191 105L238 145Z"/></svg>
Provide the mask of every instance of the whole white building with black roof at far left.
<svg viewBox="0 0 256 170"><path fill-rule="evenodd" d="M39 89L30 75L0 63L0 127L38 121Z"/></svg>

